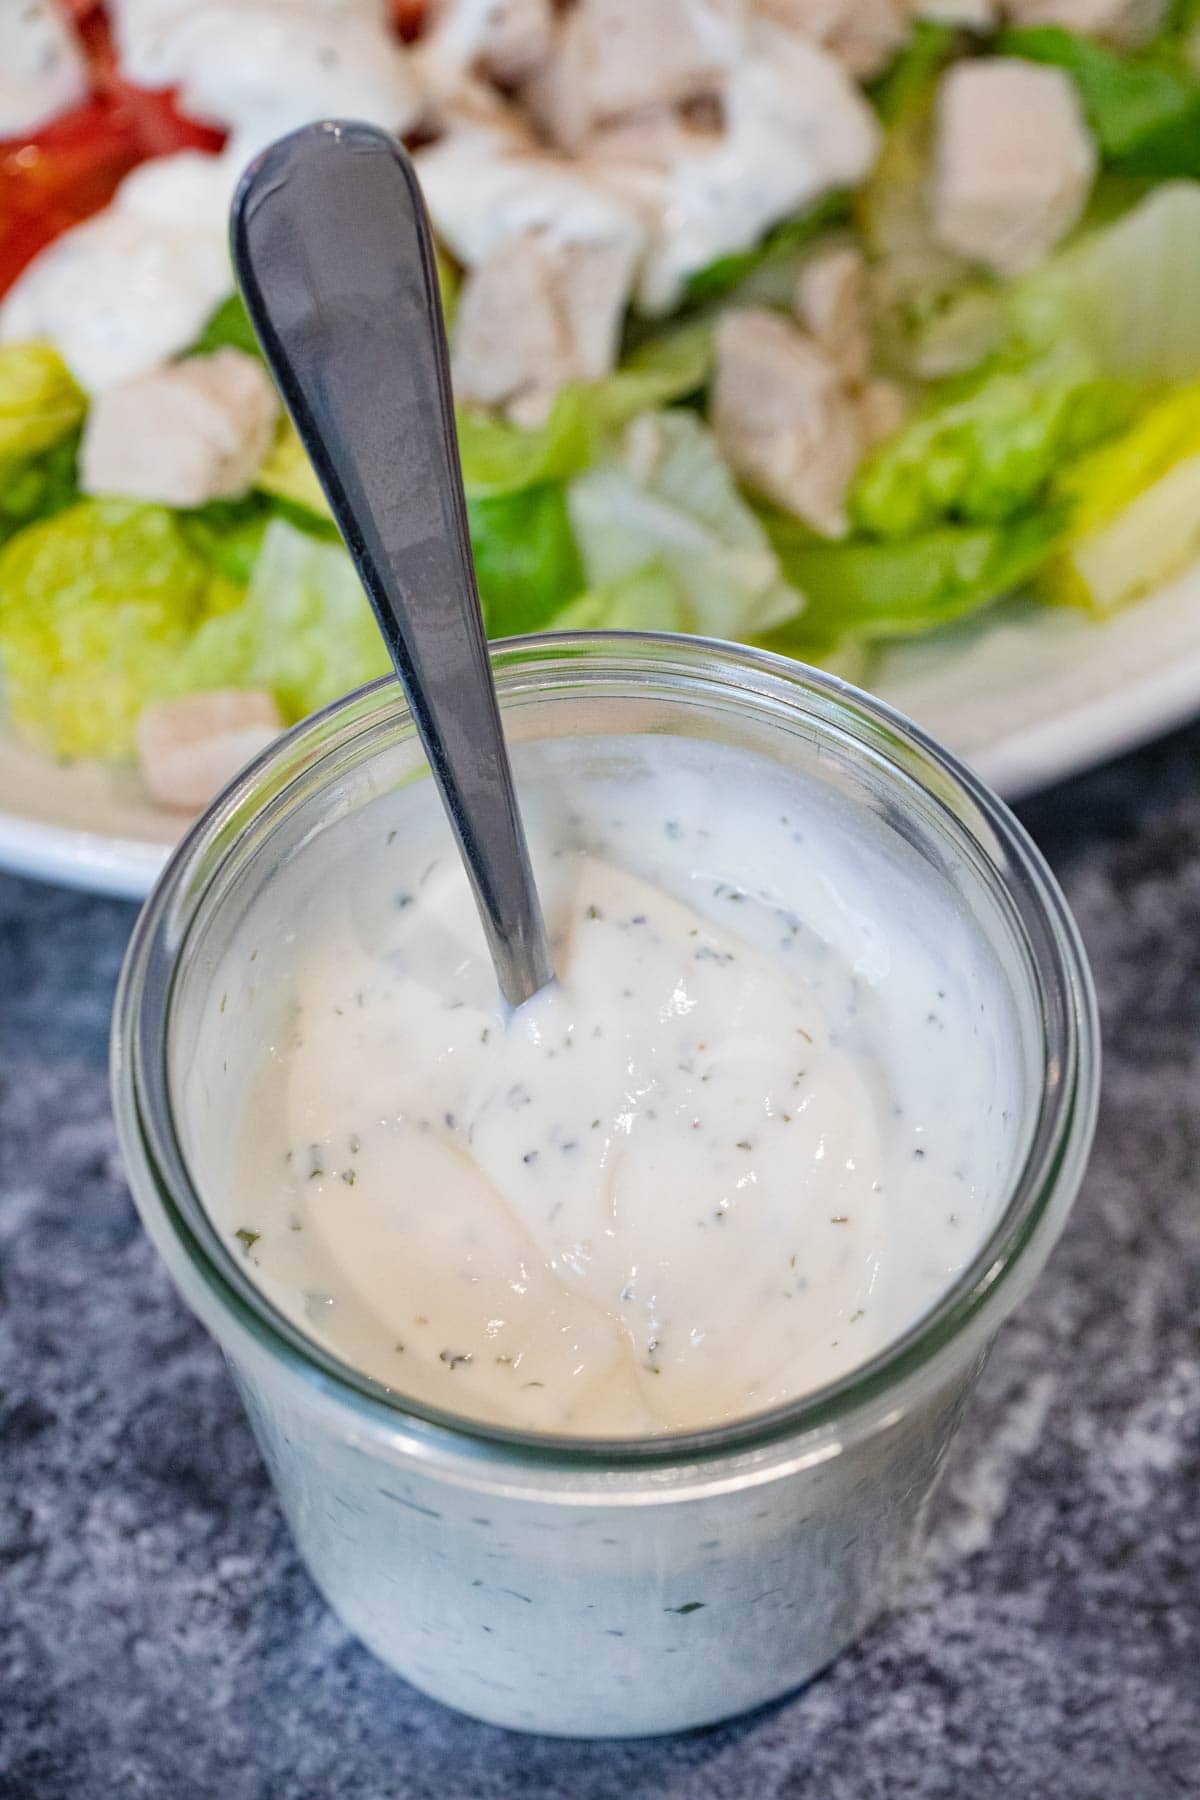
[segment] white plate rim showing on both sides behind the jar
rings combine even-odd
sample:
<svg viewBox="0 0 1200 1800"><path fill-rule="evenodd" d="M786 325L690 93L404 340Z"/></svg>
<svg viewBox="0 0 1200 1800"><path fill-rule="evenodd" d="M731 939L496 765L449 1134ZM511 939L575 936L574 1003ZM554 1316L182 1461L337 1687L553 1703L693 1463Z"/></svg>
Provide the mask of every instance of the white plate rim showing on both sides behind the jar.
<svg viewBox="0 0 1200 1800"><path fill-rule="evenodd" d="M1018 799L1200 713L1200 565L1103 625L1013 601L889 650L871 686ZM0 727L0 868L140 898L184 823Z"/></svg>

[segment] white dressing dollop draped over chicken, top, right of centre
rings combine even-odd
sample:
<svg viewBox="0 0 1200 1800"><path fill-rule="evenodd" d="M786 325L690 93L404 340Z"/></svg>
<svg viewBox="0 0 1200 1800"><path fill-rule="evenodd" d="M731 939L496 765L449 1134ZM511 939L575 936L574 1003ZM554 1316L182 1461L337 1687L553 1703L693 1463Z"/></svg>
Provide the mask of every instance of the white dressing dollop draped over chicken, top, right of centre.
<svg viewBox="0 0 1200 1800"><path fill-rule="evenodd" d="M603 171L648 223L637 290L646 313L671 311L689 275L757 243L820 194L856 187L880 142L874 113L842 65L768 20L748 25L721 110L720 130L651 119L588 146L585 166Z"/></svg>

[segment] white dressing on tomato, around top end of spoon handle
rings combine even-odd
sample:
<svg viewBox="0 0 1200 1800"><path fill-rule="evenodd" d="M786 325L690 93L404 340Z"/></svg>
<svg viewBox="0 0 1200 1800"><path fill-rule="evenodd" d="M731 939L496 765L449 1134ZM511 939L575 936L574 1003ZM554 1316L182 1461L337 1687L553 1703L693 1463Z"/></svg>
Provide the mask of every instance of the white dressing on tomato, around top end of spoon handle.
<svg viewBox="0 0 1200 1800"><path fill-rule="evenodd" d="M221 155L142 164L94 218L56 238L0 302L0 342L56 346L88 392L196 342L232 293L228 207L246 162L318 119L405 130L416 86L381 0L121 0L128 79L180 86L180 106L230 131ZM4 94L0 38L0 99Z"/></svg>

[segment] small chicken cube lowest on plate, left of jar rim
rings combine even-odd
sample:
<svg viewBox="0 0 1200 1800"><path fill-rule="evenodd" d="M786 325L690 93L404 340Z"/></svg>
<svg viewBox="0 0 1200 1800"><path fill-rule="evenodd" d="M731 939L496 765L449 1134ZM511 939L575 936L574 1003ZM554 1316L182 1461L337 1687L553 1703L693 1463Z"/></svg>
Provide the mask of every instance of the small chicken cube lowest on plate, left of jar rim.
<svg viewBox="0 0 1200 1800"><path fill-rule="evenodd" d="M200 812L282 725L268 693L218 688L160 700L137 722L142 779L162 806Z"/></svg>

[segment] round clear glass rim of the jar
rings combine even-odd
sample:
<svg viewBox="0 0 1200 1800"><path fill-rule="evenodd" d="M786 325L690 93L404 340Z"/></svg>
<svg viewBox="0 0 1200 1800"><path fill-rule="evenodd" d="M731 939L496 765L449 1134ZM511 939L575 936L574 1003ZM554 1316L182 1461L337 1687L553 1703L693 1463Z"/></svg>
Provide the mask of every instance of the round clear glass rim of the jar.
<svg viewBox="0 0 1200 1800"><path fill-rule="evenodd" d="M524 691L545 689L549 698L552 671L563 668L572 680L732 679L745 704L774 704L784 713L790 707L810 724L840 725L864 752L874 754L876 765L898 787L907 778L939 803L946 832L982 855L997 893L1011 902L1042 1003L1047 1080L1022 1166L993 1229L909 1330L837 1381L770 1411L655 1436L518 1431L441 1411L354 1370L273 1307L216 1233L184 1156L167 1073L175 976L214 877L237 855L243 828L266 806L286 806L300 776L336 760L338 751L381 718L412 729L394 677L354 689L311 715L236 776L176 846L137 920L113 1008L112 1084L117 1132L142 1217L149 1224L148 1210L155 1213L216 1307L302 1381L353 1408L367 1426L426 1436L471 1454L576 1472L655 1462L694 1465L793 1442L889 1400L898 1402L946 1355L970 1354L1016 1305L1065 1222L1087 1161L1099 1087L1096 995L1078 929L1042 853L1009 808L918 725L840 677L774 652L666 632L538 634L502 639L489 648L502 711L506 698L522 691L522 682ZM982 837L993 848L981 842ZM162 1249L164 1233L155 1238ZM1036 1258L1031 1255L1034 1240L1042 1246ZM1036 1267L1029 1269L1031 1262ZM1024 1285L1022 1269L1027 1271Z"/></svg>

